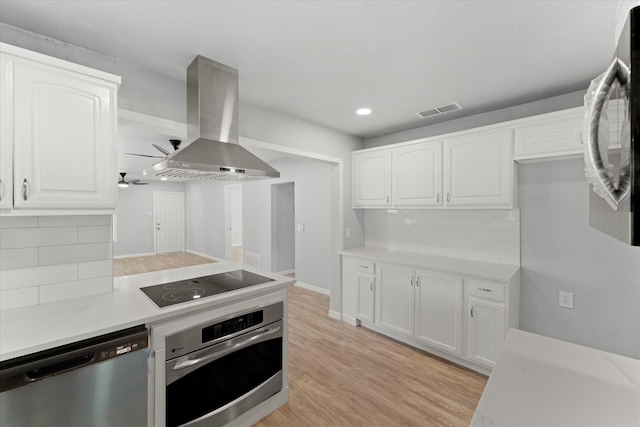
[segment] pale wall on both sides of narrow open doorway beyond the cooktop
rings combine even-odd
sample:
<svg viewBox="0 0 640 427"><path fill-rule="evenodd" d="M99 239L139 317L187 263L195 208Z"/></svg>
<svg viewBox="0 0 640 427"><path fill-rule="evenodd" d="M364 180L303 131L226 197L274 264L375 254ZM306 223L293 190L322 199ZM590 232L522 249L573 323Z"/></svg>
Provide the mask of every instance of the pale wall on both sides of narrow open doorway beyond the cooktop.
<svg viewBox="0 0 640 427"><path fill-rule="evenodd" d="M280 171L277 180L243 184L244 250L260 254L261 267L272 265L271 186L295 183L295 222L305 224L295 237L296 280L331 289L331 205L330 165L311 160L282 159L273 163Z"/></svg>

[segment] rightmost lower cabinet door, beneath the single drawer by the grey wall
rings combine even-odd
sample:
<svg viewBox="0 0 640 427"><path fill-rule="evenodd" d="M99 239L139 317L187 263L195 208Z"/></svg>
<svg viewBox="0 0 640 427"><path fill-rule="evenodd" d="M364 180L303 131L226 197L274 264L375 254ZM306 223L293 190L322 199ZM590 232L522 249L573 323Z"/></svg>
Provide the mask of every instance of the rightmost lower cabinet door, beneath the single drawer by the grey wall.
<svg viewBox="0 0 640 427"><path fill-rule="evenodd" d="M505 307L469 297L469 359L494 366L505 335Z"/></svg>

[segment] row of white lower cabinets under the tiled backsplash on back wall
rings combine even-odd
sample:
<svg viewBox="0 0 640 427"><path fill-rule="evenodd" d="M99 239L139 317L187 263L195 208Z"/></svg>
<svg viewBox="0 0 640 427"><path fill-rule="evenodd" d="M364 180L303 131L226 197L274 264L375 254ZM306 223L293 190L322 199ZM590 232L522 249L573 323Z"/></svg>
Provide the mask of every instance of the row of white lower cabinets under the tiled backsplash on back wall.
<svg viewBox="0 0 640 427"><path fill-rule="evenodd" d="M343 320L479 372L518 327L519 274L503 283L343 257L342 279Z"/></svg>

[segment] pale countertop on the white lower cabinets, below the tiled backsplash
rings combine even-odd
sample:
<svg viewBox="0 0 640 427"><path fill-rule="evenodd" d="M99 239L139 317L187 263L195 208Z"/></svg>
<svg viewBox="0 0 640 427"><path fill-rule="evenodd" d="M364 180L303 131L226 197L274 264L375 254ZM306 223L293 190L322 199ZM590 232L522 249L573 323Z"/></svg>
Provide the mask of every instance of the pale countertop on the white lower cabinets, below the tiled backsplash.
<svg viewBox="0 0 640 427"><path fill-rule="evenodd" d="M359 247L347 249L340 255L352 258L369 259L377 262L424 268L431 271L456 274L508 283L520 271L517 265L493 262L473 261L461 258L449 258L416 252L401 252L380 248Z"/></svg>

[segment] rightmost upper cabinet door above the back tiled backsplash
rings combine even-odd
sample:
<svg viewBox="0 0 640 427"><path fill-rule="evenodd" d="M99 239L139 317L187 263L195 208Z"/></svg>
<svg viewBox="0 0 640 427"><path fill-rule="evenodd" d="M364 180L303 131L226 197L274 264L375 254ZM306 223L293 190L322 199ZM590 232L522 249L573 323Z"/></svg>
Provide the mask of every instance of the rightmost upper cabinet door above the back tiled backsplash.
<svg viewBox="0 0 640 427"><path fill-rule="evenodd" d="M512 131L465 135L445 141L445 205L511 207Z"/></svg>

